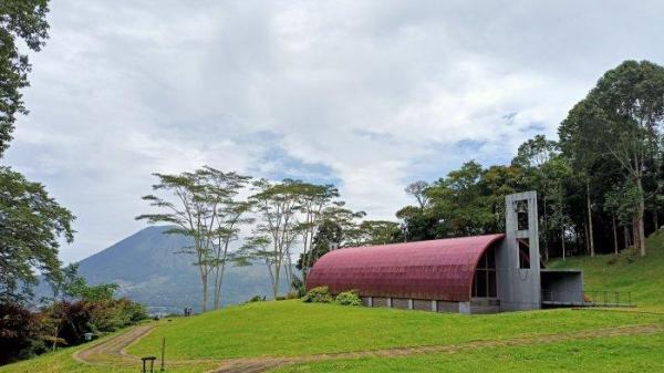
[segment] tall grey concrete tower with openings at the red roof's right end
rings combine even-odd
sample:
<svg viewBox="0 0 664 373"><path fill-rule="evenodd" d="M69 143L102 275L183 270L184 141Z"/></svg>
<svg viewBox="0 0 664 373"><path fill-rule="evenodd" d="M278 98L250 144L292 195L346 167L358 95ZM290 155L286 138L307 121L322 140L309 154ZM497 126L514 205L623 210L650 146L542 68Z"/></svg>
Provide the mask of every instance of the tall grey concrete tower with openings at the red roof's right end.
<svg viewBox="0 0 664 373"><path fill-rule="evenodd" d="M519 230L517 203L528 203L528 229ZM506 238L496 248L496 270L500 310L536 310L541 308L540 256L537 216L537 193L525 191L505 197ZM519 268L517 239L528 238L530 268Z"/></svg>

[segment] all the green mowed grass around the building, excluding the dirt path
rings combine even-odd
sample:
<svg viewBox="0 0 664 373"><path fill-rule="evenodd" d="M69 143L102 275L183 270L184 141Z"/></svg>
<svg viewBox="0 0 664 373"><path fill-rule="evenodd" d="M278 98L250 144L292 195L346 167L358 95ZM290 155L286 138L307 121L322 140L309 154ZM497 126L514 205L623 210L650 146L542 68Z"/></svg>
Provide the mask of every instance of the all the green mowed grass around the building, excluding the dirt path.
<svg viewBox="0 0 664 373"><path fill-rule="evenodd" d="M476 341L535 338L573 331L636 324L664 324L664 232L647 240L645 258L572 258L554 268L581 268L587 289L630 291L635 309L548 310L490 315L439 314L394 309L367 309L299 301L259 302L230 307L194 318L160 321L146 338L128 348L135 355L157 354L166 339L175 360L300 356L417 345L457 345ZM646 312L642 312L646 311ZM660 314L661 313L661 314ZM103 340L94 343L102 343ZM63 349L0 367L0 373L137 372L136 367L89 365ZM196 363L168 372L209 371ZM566 340L533 345L478 348L456 353L402 358L360 358L278 367L274 372L642 372L664 371L664 333Z"/></svg>

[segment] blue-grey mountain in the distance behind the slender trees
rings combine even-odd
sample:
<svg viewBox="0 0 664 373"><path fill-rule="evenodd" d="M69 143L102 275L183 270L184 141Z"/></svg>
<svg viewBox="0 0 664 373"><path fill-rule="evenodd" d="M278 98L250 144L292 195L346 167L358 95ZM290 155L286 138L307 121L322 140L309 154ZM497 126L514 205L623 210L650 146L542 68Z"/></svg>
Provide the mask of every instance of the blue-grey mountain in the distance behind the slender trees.
<svg viewBox="0 0 664 373"><path fill-rule="evenodd" d="M181 248L191 246L190 239L165 234L167 229L145 228L81 260L79 271L90 283L120 284L120 296L146 304L152 312L181 312L185 307L199 309L201 286L198 268L193 265L195 258L178 253ZM286 283L282 289L286 290ZM224 305L270 293L268 272L262 265L226 268Z"/></svg>

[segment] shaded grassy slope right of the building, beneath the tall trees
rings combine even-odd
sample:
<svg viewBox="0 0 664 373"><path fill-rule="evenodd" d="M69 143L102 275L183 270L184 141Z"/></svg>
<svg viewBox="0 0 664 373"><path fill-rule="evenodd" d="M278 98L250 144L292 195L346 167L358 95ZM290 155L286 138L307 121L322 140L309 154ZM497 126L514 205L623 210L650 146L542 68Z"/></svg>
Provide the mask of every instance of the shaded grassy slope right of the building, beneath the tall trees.
<svg viewBox="0 0 664 373"><path fill-rule="evenodd" d="M637 305L664 311L664 230L647 238L644 258L622 252L557 260L549 267L582 269L587 290L631 292Z"/></svg>

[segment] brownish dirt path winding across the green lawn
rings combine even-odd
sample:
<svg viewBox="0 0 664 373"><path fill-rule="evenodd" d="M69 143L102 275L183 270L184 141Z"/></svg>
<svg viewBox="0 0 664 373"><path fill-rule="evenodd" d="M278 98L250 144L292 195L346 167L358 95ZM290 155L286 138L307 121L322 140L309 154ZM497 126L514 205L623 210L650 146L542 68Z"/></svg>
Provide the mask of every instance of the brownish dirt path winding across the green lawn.
<svg viewBox="0 0 664 373"><path fill-rule="evenodd" d="M132 356L125 352L125 349L131 344L137 342L141 338L147 335L153 329L154 324L136 327L128 332L114 336L106 342L96 344L90 349L79 351L74 353L73 358L80 362L98 365L113 365L113 366L138 366L139 359ZM518 346L529 344L542 344L567 340L584 340L603 336L619 336L619 335L636 335L636 334L652 334L664 332L664 324L646 324L646 325L633 325L633 327L616 327L606 328L599 330L572 332L572 333L560 333L560 334L548 334L548 335L530 335L522 338L505 339L505 340L484 340L474 341L460 344L445 344L445 345L423 345L413 348L396 348L396 349L384 349L374 351L356 351L356 352L343 352L343 353L331 353L331 354L315 354L304 356L291 356L291 358L246 358L246 359L228 359L228 360L183 360L183 361L167 361L167 364L181 365L208 362L215 363L216 369L209 373L259 373L266 372L270 369L297 364L297 363L311 363L321 362L326 360L345 360L345 359L359 359L359 358L395 358L395 356L407 356L429 353L456 353L463 351L469 351L483 348L500 348L500 346Z"/></svg>

